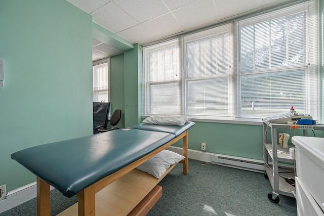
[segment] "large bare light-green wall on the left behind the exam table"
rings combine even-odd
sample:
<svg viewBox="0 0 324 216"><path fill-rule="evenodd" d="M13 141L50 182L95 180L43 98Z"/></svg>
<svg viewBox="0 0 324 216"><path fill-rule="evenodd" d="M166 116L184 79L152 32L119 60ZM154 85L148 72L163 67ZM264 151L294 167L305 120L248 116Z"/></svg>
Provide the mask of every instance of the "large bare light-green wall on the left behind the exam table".
<svg viewBox="0 0 324 216"><path fill-rule="evenodd" d="M0 23L0 185L12 191L36 179L11 153L92 134L92 17L65 0L5 0Z"/></svg>

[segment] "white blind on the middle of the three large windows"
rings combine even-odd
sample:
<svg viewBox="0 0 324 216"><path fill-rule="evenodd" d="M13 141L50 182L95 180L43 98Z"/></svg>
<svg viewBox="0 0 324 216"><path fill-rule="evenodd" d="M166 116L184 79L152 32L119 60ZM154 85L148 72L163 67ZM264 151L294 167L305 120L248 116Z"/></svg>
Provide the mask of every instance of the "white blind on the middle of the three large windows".
<svg viewBox="0 0 324 216"><path fill-rule="evenodd" d="M183 37L186 115L232 116L232 24Z"/></svg>

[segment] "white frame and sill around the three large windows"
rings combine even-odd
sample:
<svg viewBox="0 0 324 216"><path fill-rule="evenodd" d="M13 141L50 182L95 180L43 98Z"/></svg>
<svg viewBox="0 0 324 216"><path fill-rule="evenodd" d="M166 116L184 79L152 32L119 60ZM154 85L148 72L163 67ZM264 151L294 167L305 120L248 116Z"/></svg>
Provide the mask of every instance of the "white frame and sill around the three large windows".
<svg viewBox="0 0 324 216"><path fill-rule="evenodd" d="M312 1L312 2L315 2L314 4L318 4L317 1ZM299 3L297 3L297 4L299 4ZM304 4L306 4L306 3L304 3ZM290 7L290 6L292 6L292 4L288 5L287 8ZM282 8L283 7L279 8L279 10L281 10ZM265 12L265 14L266 13L269 13L269 12ZM277 11L276 10L273 10L272 13L277 13ZM317 8L316 13L317 13L317 17L319 17L318 8ZM262 13L259 13L257 16L259 16L260 14L262 14ZM255 17L257 17L257 16L255 16ZM247 17L247 18L250 18L250 17ZM240 20L242 20L242 19L246 19L246 17L240 18ZM266 18L265 18L265 20L266 20ZM222 24L219 24L217 26L221 26L221 25L225 25L225 24L222 23ZM317 23L317 26L318 25L319 24ZM183 114L183 115L187 115L189 117L192 117L194 120L205 121L205 122L221 122L221 123L261 125L261 119L262 119L261 117L245 118L245 117L242 117L241 114L240 114L241 113L241 110L242 110L242 106L241 106L241 92L240 92L241 91L241 78L240 77L241 77L241 74L248 74L248 73L253 74L254 72L251 72L251 71L250 72L247 72L247 71L242 72L242 71L240 71L240 63L239 63L239 60L240 60L240 51L238 51L238 49L240 48L239 47L239 45L240 45L239 38L240 37L237 36L237 35L235 35L235 34L237 34L237 32L239 32L239 30L238 30L239 28L236 27L236 25L235 25L235 27L233 25L233 28L234 29L233 29L232 35L231 35L232 36L232 41L231 42L232 42L232 47L236 49L236 52L234 51L234 49L231 50L232 53L231 53L230 58L231 58L231 68L233 70L233 74L231 76L229 76L229 79L230 80L228 82L231 85L231 89L233 91L233 93L230 94L231 95L230 97L233 97L231 99L232 100L232 103L230 103L231 111L234 113L233 116L203 116L203 115L199 116L199 115L188 115L188 102L187 102L186 99L183 99L183 97L186 98L187 97L187 94L188 94L188 92L187 92L188 82L189 81L192 81L192 80L195 80L195 79L196 80L199 80L199 79L202 80L203 79L202 77L193 77L192 78L192 77L186 77L185 75L183 75L185 73L185 67L186 67L186 60L184 60L184 57L186 56L186 50L184 49L184 47L185 47L184 44L181 44L181 43L183 43L183 37L186 36L186 35L189 35L189 34L184 34L184 35L180 35L179 37L177 37L177 38L179 38L179 46L181 48L180 51L179 51L179 54L181 56L181 58L179 60L180 61L179 64L180 64L180 68L181 68L180 73L183 73L183 74L180 75L180 79L178 81L178 83L181 86L180 87L181 88L181 91L180 91L181 93L179 95L182 98L180 100L180 102L179 102L180 103L180 107L181 107L181 113L180 114ZM207 30L209 30L209 29L207 29ZM315 31L316 30L314 30L313 32L315 32ZM194 32L194 33L196 33L196 32ZM316 33L317 33L317 38L319 38L318 32L316 32ZM307 41L306 41L306 43L307 43ZM319 43L318 43L318 45L319 45ZM146 47L144 46L144 48L143 48L143 64L144 64L143 70L144 70L144 76L145 76L145 73L146 73L146 71L145 71L145 64L146 64L146 62L145 62L145 48ZM270 50L269 50L269 52L270 52ZM316 57L317 59L316 59L316 62L315 62L316 65L313 66L313 67L316 67L316 70L317 70L317 75L318 75L318 77L317 77L318 78L317 79L317 85L318 85L318 88L320 90L320 80L321 80L320 79L320 73L319 73L319 71L320 71L319 70L320 69L319 68L319 66L320 66L319 65L319 58L320 57L319 57L318 53L319 52L317 51L317 57ZM308 57L305 56L305 58L308 58ZM287 66L285 69L289 69L289 68L291 68L291 67L290 66ZM305 66L304 65L301 65L300 68L303 68L304 69ZM272 72L276 72L276 71L280 71L280 70L284 70L284 69L279 69L279 70L277 70L277 69L271 69L271 70L272 70ZM211 77L209 77L209 79L210 78ZM146 84L147 84L147 82L144 79L144 85L146 85ZM147 99L147 97L145 97L145 94L146 94L146 89L145 88L144 88L144 93L143 94L144 94L144 101L145 101L144 105L147 106L147 104L148 104L148 101L147 100L148 99ZM317 98L318 98L318 101L320 101L320 98L321 98L320 93L318 93ZM320 106L321 106L321 104L319 102L319 107ZM321 120L322 119L322 113L320 112L320 108L319 107L318 107L318 110L316 110L316 112L318 113L318 116L319 116L318 119L316 119L316 120ZM285 112L288 112L288 111L289 110L287 110ZM146 117L146 116L149 116L149 115L152 115L152 114L153 113L148 113L148 112L144 111L143 117ZM154 113L154 114L157 114L157 113ZM305 114L307 114L307 113L305 113Z"/></svg>

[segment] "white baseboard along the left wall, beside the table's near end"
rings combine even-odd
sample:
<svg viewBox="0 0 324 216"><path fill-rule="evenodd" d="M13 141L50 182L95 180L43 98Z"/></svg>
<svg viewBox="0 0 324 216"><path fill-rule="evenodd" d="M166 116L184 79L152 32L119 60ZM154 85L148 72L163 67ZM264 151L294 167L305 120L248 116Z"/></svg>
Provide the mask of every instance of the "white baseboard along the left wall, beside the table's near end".
<svg viewBox="0 0 324 216"><path fill-rule="evenodd" d="M54 187L51 186L50 189L53 190ZM0 213L27 202L28 200L35 198L36 195L36 182L10 191L8 192L6 198L0 201Z"/></svg>

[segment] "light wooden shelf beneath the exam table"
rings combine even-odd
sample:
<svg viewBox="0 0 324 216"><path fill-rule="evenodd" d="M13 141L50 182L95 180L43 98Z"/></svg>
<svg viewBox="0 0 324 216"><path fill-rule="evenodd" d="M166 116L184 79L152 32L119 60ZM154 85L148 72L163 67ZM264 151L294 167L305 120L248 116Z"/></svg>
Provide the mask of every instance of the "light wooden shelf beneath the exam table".
<svg viewBox="0 0 324 216"><path fill-rule="evenodd" d="M96 193L96 215L128 215L135 207L138 208L137 205L143 205L140 202L145 200L146 195L155 188L174 166L170 166L159 179L138 169L128 172L125 176ZM157 188L154 190L157 190ZM156 193L153 195L156 195ZM77 209L77 203L75 203L59 213L58 216L78 215Z"/></svg>

